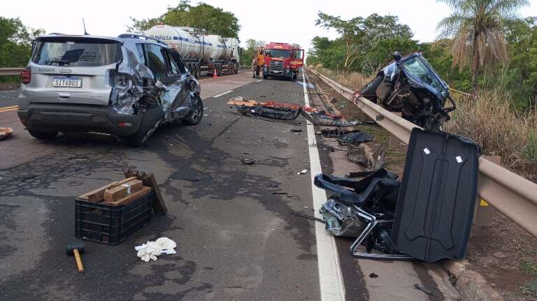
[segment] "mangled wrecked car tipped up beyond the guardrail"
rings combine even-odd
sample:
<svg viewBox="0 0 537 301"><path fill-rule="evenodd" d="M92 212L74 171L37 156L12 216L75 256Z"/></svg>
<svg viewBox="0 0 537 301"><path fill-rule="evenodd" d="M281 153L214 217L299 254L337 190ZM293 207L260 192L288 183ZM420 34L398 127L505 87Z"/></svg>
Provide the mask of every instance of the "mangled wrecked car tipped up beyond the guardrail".
<svg viewBox="0 0 537 301"><path fill-rule="evenodd" d="M394 61L361 89L360 94L391 112L424 129L440 130L455 110L450 89L434 68L415 52L401 57L394 52ZM450 107L445 103L450 101Z"/></svg>

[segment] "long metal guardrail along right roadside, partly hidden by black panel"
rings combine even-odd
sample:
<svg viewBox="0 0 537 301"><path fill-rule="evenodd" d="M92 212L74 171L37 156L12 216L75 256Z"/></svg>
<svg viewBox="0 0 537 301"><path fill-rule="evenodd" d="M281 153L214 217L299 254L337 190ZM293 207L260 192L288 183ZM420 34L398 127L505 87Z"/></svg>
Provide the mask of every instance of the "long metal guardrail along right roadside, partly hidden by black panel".
<svg viewBox="0 0 537 301"><path fill-rule="evenodd" d="M343 87L321 73L310 68L306 69L324 80L342 96L350 99L354 93L353 90ZM412 122L380 108L367 98L357 97L353 103L382 128L407 145L410 140L410 131L413 128L419 128ZM537 184L481 157L479 159L478 196L537 237Z"/></svg>

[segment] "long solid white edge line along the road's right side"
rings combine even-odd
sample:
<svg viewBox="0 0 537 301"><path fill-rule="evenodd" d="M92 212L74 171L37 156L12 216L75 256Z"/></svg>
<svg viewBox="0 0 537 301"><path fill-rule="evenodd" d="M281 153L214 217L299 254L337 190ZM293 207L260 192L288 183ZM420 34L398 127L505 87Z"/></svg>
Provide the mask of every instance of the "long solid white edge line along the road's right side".
<svg viewBox="0 0 537 301"><path fill-rule="evenodd" d="M304 103L310 105L308 90L306 89L306 75L302 69L302 87L304 88ZM310 152L310 175L311 175L311 193L313 195L313 210L315 216L322 219L319 209L327 201L327 193L313 184L315 175L322 173L321 162L319 159L319 150L317 149L317 140L315 139L315 129L313 124L306 121L308 129L308 145ZM321 300L345 300L345 287L343 286L343 277L341 276L341 266L339 265L338 248L334 236L324 230L322 223L315 223L315 238L317 240L317 263L319 265L319 281Z"/></svg>

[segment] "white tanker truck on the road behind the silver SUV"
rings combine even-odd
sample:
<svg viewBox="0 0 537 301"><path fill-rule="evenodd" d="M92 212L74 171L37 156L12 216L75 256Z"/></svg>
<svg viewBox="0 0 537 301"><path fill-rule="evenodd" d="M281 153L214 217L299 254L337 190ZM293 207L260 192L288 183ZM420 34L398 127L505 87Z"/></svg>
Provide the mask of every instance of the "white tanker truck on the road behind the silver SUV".
<svg viewBox="0 0 537 301"><path fill-rule="evenodd" d="M171 27L165 24L151 27L146 36L168 44L179 52L185 65L199 78L201 75L238 73L239 56L242 52L236 38L205 35L191 27Z"/></svg>

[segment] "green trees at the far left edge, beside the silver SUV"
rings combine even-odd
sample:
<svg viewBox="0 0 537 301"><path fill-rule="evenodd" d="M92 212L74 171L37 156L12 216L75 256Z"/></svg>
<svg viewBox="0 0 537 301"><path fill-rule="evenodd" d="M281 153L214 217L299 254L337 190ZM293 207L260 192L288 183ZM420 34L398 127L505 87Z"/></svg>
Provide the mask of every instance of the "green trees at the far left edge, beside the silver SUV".
<svg viewBox="0 0 537 301"><path fill-rule="evenodd" d="M43 29L25 27L19 18L0 17L0 67L24 67L28 64L31 41Z"/></svg>

